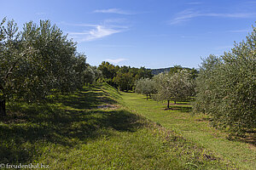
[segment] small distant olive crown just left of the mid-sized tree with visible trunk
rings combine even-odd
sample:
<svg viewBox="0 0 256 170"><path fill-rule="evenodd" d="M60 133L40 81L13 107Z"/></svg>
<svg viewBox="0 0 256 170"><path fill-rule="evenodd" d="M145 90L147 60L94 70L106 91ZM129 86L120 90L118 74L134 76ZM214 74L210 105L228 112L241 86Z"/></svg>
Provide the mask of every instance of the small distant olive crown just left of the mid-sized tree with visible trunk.
<svg viewBox="0 0 256 170"><path fill-rule="evenodd" d="M137 80L135 83L135 92L137 94L147 95L148 99L148 95L155 94L156 92L154 80L149 78L141 78Z"/></svg>

